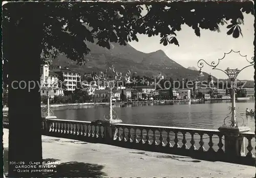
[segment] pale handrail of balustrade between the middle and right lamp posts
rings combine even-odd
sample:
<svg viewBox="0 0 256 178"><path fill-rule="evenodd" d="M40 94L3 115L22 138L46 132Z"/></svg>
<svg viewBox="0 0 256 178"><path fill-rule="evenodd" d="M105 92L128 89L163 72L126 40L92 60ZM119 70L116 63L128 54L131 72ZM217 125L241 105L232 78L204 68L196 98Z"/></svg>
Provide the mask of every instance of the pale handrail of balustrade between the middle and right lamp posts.
<svg viewBox="0 0 256 178"><path fill-rule="evenodd" d="M137 125L137 124L125 124L125 123L114 123L113 125L134 126L134 127L139 127L139 128L170 129L170 130L184 130L184 131L204 131L204 132L220 133L220 131L217 129L178 128L175 126Z"/></svg>

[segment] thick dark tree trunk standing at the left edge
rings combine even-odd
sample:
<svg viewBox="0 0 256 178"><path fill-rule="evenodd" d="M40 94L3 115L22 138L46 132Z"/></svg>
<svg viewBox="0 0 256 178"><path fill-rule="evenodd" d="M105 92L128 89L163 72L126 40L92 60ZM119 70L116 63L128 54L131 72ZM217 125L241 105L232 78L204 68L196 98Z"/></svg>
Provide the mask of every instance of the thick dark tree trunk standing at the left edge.
<svg viewBox="0 0 256 178"><path fill-rule="evenodd" d="M18 172L18 168L15 168L17 165L42 161L38 84L43 23L40 8L25 6L23 12L20 11L22 6L10 6L11 12L17 10L16 16L20 15L21 18L8 27L8 41L4 41L4 45L8 46L8 51L4 53L8 53L9 63L9 177L41 176L40 172ZM14 19L16 16L13 16Z"/></svg>

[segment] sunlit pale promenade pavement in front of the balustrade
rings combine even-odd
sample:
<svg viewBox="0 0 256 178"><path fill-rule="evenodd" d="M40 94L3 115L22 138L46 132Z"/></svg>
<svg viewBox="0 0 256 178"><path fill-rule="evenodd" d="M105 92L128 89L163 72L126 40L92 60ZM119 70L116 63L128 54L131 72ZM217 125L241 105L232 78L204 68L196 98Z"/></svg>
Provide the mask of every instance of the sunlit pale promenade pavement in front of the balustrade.
<svg viewBox="0 0 256 178"><path fill-rule="evenodd" d="M9 130L4 129L7 166ZM58 161L55 177L253 177L255 168L42 136L42 156Z"/></svg>

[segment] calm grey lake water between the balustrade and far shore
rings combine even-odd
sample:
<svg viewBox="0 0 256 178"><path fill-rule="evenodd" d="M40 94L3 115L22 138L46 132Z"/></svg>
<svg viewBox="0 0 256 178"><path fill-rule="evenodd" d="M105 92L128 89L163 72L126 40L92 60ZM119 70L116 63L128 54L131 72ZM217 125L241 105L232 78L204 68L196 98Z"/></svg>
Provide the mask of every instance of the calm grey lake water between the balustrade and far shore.
<svg viewBox="0 0 256 178"><path fill-rule="evenodd" d="M230 100L180 102L175 104L139 103L132 105L113 105L123 123L180 126L185 128L218 129L230 112ZM236 104L238 114L246 126L254 132L254 117L246 116L246 108L254 108L254 100L239 100ZM58 119L92 121L102 119L109 113L109 106L81 106L54 109Z"/></svg>

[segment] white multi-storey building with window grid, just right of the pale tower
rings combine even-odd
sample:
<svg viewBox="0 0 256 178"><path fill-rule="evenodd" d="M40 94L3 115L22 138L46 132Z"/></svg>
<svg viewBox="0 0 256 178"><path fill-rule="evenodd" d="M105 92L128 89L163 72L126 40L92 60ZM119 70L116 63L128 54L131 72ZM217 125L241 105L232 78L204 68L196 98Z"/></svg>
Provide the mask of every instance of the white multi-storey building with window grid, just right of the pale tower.
<svg viewBox="0 0 256 178"><path fill-rule="evenodd" d="M78 72L75 72L69 69L68 67L61 68L61 66L59 66L59 68L52 69L51 71L59 75L61 74L63 75L64 82L66 82L68 91L73 92L76 89L77 82L81 82L80 74Z"/></svg>

